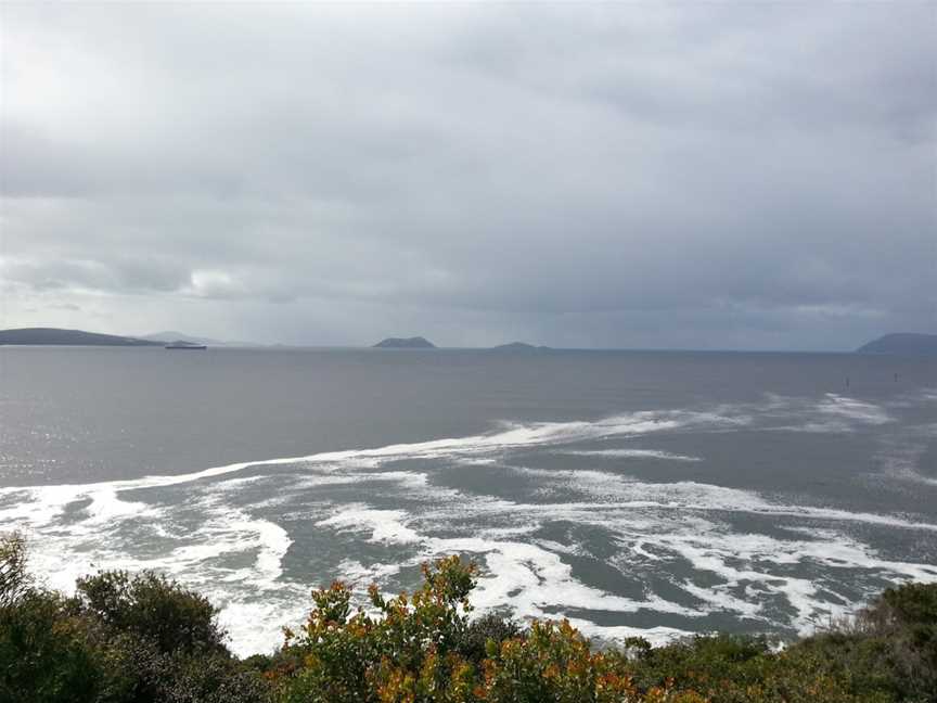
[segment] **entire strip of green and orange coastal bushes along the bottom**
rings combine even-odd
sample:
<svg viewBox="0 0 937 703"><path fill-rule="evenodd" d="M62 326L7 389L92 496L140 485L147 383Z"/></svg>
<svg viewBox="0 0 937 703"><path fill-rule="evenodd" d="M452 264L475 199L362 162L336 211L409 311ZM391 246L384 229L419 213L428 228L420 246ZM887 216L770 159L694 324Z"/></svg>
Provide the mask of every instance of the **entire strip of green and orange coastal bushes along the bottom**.
<svg viewBox="0 0 937 703"><path fill-rule="evenodd" d="M0 537L4 703L933 703L937 585L886 590L855 617L779 648L699 636L601 649L567 622L473 617L477 567L423 567L413 593L370 608L336 581L272 654L239 660L216 608L165 576L104 571L73 596L31 578Z"/></svg>

